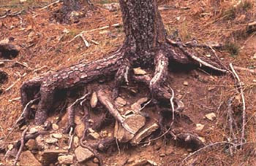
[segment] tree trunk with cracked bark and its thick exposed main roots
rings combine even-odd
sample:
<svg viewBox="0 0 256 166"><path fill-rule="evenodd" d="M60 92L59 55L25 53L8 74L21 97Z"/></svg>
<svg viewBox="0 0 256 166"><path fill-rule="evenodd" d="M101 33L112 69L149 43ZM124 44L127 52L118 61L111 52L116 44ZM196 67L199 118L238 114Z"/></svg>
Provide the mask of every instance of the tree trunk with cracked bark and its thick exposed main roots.
<svg viewBox="0 0 256 166"><path fill-rule="evenodd" d="M187 64L191 63L191 60L180 50L167 44L156 0L120 0L119 3L126 38L118 51L108 58L63 68L23 83L20 88L23 106L36 96L41 97L35 115L37 124L45 122L48 112L53 111L50 109L56 90L88 84L100 76L116 74L113 94L118 94L116 89L128 82L130 68L138 66L152 69L152 66L155 66L154 76L149 84L152 96L170 99L170 92L163 87L169 61Z"/></svg>

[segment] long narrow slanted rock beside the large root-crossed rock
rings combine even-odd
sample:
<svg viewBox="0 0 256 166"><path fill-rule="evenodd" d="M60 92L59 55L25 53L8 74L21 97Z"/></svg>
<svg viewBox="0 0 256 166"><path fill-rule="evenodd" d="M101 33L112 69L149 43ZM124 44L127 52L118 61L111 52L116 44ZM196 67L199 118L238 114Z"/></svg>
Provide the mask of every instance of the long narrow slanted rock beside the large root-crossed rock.
<svg viewBox="0 0 256 166"><path fill-rule="evenodd" d="M150 125L149 127L146 127L142 131L140 131L138 134L135 135L134 138L130 141L130 143L135 146L140 143L144 138L146 138L148 135L151 135L152 132L157 130L159 128L159 125L157 123L154 123L153 125Z"/></svg>

